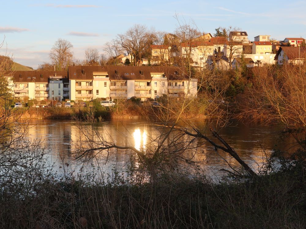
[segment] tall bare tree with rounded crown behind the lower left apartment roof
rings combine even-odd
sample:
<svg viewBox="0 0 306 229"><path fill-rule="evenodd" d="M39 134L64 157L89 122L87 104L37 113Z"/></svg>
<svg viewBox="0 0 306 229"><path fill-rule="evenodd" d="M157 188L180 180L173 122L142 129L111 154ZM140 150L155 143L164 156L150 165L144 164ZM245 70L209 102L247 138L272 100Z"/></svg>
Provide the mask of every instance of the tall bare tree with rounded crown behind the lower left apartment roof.
<svg viewBox="0 0 306 229"><path fill-rule="evenodd" d="M56 70L62 71L67 69L73 60L73 45L65 40L59 38L53 45L50 51L50 59L52 64L56 66Z"/></svg>

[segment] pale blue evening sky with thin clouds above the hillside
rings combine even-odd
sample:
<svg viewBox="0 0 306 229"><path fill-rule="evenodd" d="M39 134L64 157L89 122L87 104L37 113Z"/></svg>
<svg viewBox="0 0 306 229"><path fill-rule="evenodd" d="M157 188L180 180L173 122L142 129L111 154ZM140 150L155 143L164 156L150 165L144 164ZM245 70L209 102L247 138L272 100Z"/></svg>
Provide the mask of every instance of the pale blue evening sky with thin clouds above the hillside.
<svg viewBox="0 0 306 229"><path fill-rule="evenodd" d="M179 23L195 24L201 32L218 27L238 27L257 35L306 38L306 1L65 1L2 0L0 55L15 62L38 67L49 62L49 52L58 38L73 44L77 59L86 48L103 53L103 45L134 24L174 32ZM178 20L174 17L178 16Z"/></svg>

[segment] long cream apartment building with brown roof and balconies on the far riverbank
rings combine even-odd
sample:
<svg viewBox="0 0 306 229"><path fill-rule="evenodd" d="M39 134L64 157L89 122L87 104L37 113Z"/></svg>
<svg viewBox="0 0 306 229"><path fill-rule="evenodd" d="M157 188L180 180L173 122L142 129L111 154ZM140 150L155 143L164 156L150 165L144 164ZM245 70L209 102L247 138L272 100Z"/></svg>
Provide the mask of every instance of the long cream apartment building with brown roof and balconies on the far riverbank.
<svg viewBox="0 0 306 229"><path fill-rule="evenodd" d="M164 94L179 98L197 95L197 79L177 67L70 66L67 71L7 73L15 98L83 100L96 98L141 100Z"/></svg>

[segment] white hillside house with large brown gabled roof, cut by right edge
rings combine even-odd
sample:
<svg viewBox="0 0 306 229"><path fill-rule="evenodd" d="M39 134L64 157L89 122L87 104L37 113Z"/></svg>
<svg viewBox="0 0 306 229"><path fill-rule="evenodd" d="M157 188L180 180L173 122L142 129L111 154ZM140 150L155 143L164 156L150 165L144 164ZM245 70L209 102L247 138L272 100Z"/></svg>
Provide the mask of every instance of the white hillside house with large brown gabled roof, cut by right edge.
<svg viewBox="0 0 306 229"><path fill-rule="evenodd" d="M278 64L301 64L305 61L306 48L304 47L280 47L275 55L274 60Z"/></svg>

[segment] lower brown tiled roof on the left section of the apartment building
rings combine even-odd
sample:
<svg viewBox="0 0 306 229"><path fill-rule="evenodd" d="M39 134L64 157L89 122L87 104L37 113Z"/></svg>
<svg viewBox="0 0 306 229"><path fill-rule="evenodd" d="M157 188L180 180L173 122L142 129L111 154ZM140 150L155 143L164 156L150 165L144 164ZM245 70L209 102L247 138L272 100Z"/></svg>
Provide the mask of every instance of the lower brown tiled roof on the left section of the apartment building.
<svg viewBox="0 0 306 229"><path fill-rule="evenodd" d="M47 83L50 76L62 76L63 82L68 81L67 71L7 71L4 75L13 76L14 82L26 83L37 82Z"/></svg>

